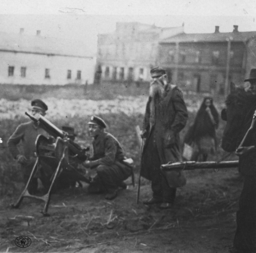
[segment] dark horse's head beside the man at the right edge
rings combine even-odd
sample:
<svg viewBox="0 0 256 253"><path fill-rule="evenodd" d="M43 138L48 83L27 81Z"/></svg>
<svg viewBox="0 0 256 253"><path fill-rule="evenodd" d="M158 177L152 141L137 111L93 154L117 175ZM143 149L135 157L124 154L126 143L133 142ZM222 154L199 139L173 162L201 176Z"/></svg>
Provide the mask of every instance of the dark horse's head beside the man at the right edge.
<svg viewBox="0 0 256 253"><path fill-rule="evenodd" d="M243 135L250 127L255 106L255 95L242 88L236 88L231 83L226 108L221 112L221 118L227 122L222 137L222 148L225 151L233 152L237 149Z"/></svg>

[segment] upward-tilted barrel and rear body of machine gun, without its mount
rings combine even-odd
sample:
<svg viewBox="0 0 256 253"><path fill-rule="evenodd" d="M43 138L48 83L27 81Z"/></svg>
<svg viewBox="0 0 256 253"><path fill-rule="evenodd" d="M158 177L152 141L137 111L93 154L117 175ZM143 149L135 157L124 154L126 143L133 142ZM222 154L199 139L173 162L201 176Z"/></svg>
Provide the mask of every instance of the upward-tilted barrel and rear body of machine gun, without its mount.
<svg viewBox="0 0 256 253"><path fill-rule="evenodd" d="M39 119L36 119L34 116L27 112L25 114L35 123L38 123L42 129L44 129L49 135L52 135L54 138L60 137L61 139L64 139L66 137L66 135L59 128L57 128L56 125L54 125L51 121L47 120L44 116L40 115ZM89 150L88 147L82 148L79 144L75 143L71 139L68 139L68 147L75 155L77 155L77 158L79 160L84 161L87 159L87 155L85 154L85 152Z"/></svg>

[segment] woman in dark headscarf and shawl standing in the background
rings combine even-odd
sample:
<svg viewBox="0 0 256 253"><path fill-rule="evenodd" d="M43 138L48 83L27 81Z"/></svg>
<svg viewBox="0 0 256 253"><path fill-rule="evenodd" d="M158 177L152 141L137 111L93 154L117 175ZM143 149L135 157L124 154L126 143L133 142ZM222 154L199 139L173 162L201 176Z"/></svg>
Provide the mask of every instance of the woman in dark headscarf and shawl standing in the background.
<svg viewBox="0 0 256 253"><path fill-rule="evenodd" d="M197 150L191 158L192 161L198 161L199 157L202 156L202 161L205 162L208 154L216 151L217 139L215 130L218 125L218 111L213 105L213 99L207 96L197 112L194 124L190 126L184 139L184 143L188 145L194 143L195 150Z"/></svg>

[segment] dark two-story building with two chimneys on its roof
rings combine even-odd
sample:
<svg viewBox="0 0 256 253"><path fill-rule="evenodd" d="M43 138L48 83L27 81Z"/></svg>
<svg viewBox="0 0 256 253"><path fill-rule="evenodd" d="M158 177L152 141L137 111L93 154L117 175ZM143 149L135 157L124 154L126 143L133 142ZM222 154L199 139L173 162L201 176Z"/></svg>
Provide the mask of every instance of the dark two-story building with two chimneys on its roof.
<svg viewBox="0 0 256 253"><path fill-rule="evenodd" d="M224 94L256 67L256 31L180 33L159 42L158 64L184 90Z"/></svg>

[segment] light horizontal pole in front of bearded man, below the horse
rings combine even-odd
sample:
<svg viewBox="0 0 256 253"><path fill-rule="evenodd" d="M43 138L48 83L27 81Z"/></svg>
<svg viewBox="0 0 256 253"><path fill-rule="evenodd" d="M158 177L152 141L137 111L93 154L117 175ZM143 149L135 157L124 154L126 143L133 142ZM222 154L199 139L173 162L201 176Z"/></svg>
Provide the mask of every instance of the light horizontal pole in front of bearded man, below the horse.
<svg viewBox="0 0 256 253"><path fill-rule="evenodd" d="M162 170L193 170L193 169L224 169L224 168L237 168L237 161L224 161L224 162L178 162L178 163L167 163L161 166Z"/></svg>

